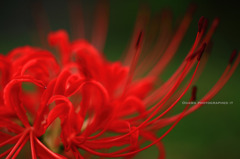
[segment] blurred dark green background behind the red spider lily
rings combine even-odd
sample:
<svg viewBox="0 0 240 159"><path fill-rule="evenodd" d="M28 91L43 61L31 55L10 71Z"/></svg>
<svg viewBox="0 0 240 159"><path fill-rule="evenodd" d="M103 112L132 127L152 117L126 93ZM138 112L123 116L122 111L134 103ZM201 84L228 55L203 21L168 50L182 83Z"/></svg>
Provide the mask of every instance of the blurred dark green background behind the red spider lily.
<svg viewBox="0 0 240 159"><path fill-rule="evenodd" d="M40 3L39 3L40 2ZM34 14L40 5L46 11L51 30L66 29L70 32L67 0L1 1L0 2L0 52L24 46L39 46ZM86 38L90 39L96 1L81 1L84 10ZM167 79L184 59L197 31L201 16L209 21L220 18L220 25L213 37L213 49L204 73L197 82L198 99L211 89L225 69L233 49L240 49L240 12L235 1L215 0L110 0L110 21L104 52L110 60L117 60L130 41L136 16L141 5L148 6L151 14L168 8L177 19L183 17L190 4L197 5L193 22L176 56L165 70ZM71 33L70 33L71 35ZM72 36L73 37L73 36ZM212 101L233 101L229 105L206 105L184 118L163 139L167 159L239 159L240 143L240 68ZM188 94L189 95L189 94ZM190 95L189 95L190 96ZM187 99L184 98L182 101ZM183 108L180 103L178 107ZM155 147L136 158L156 158Z"/></svg>

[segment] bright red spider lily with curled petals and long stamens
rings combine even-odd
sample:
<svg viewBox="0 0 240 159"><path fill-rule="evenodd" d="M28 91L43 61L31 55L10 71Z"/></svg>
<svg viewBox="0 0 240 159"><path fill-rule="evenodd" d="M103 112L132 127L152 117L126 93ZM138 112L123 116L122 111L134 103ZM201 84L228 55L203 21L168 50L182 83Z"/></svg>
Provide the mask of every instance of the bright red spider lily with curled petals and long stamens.
<svg viewBox="0 0 240 159"><path fill-rule="evenodd" d="M145 55L147 58L140 56L144 50L144 32L139 28L145 21L138 21L135 31L138 35L134 36L126 55L126 66L107 61L85 40L70 42L63 30L48 36L60 59L49 51L29 46L1 56L0 147L10 146L4 148L0 157L16 158L29 141L34 159L90 158L91 155L133 158L152 145L158 147L159 158L164 158L161 140L184 116L202 106L187 104L181 113L166 116L201 74L218 24L215 19L205 34L207 21L202 17L186 59L167 81L155 87L176 53L191 15L192 10L187 12L168 45L160 45L162 48L158 44L170 38L167 34L160 35L156 46ZM102 27L106 30L107 26L104 23ZM103 32L96 30L97 35ZM99 49L105 36L95 39ZM240 56L234 51L220 79L200 101L211 100L239 62ZM189 101L196 100L196 90L193 87ZM170 124L165 133L157 136L159 129ZM151 144L141 147L147 141ZM115 147L118 150L109 151Z"/></svg>

